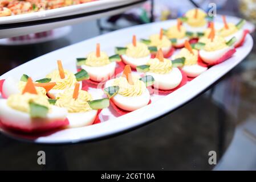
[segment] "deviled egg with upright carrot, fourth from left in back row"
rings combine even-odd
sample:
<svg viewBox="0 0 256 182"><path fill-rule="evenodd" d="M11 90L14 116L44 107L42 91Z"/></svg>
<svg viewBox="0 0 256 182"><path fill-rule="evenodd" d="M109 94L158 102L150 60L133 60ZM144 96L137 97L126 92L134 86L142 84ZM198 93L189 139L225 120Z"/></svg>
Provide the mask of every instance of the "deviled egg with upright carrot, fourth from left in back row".
<svg viewBox="0 0 256 182"><path fill-rule="evenodd" d="M133 35L132 43L126 47L116 47L115 52L121 55L121 59L125 64L136 68L139 65L146 64L151 58L151 51L156 52L156 47L148 47L146 44L137 42L136 36Z"/></svg>

